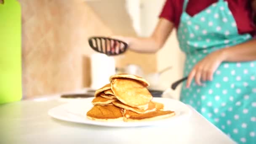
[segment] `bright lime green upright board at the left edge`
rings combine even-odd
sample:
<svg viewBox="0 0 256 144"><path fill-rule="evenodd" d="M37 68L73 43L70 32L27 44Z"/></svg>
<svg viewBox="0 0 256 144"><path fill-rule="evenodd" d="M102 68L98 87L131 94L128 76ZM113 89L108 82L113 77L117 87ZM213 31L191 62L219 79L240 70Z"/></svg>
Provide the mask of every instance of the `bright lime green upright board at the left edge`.
<svg viewBox="0 0 256 144"><path fill-rule="evenodd" d="M0 104L21 97L21 8L17 0L4 0L0 4Z"/></svg>

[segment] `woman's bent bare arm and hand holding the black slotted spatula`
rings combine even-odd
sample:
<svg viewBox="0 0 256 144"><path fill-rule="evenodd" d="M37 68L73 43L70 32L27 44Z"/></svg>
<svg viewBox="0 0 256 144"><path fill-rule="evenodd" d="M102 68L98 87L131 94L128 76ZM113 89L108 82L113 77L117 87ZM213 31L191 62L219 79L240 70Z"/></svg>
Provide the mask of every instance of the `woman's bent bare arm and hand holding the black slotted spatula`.
<svg viewBox="0 0 256 144"><path fill-rule="evenodd" d="M159 19L150 37L113 37L128 43L131 51L139 53L155 53L164 45L174 24L167 19Z"/></svg>

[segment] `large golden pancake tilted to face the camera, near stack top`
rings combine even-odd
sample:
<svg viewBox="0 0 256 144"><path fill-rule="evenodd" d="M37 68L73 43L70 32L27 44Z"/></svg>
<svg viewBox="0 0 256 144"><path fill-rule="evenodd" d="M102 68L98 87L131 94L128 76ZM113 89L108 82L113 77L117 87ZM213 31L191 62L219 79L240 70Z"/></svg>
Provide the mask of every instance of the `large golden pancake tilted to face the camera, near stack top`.
<svg viewBox="0 0 256 144"><path fill-rule="evenodd" d="M115 78L111 82L111 89L123 104L138 109L146 110L153 98L144 85L132 79Z"/></svg>

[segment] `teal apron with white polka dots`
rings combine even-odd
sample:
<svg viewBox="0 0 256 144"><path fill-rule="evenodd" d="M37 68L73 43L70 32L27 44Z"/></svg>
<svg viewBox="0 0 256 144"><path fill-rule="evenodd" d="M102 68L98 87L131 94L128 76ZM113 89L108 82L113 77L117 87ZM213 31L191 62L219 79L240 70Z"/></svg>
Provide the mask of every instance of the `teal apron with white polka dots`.
<svg viewBox="0 0 256 144"><path fill-rule="evenodd" d="M250 34L238 34L224 0L195 16L185 12L187 3L185 0L178 28L179 45L186 53L184 76L209 53L252 39ZM256 61L223 62L212 81L199 86L193 80L190 88L184 84L181 101L194 107L237 143L256 144Z"/></svg>

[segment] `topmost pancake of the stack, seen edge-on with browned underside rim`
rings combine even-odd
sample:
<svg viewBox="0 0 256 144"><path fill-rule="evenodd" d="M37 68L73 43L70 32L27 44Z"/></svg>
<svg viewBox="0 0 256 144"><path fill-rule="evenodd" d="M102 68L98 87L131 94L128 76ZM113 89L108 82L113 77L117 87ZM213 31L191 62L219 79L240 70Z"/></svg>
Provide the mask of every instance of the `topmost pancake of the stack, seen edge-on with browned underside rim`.
<svg viewBox="0 0 256 144"><path fill-rule="evenodd" d="M149 82L147 82L147 80L145 80L142 77L136 76L136 75L130 75L130 74L117 74L117 75L112 75L109 78L109 81L112 82L112 80L114 80L115 78L128 78L128 79L133 79L133 80L137 80L139 81L142 85L144 85L145 87L149 86Z"/></svg>

